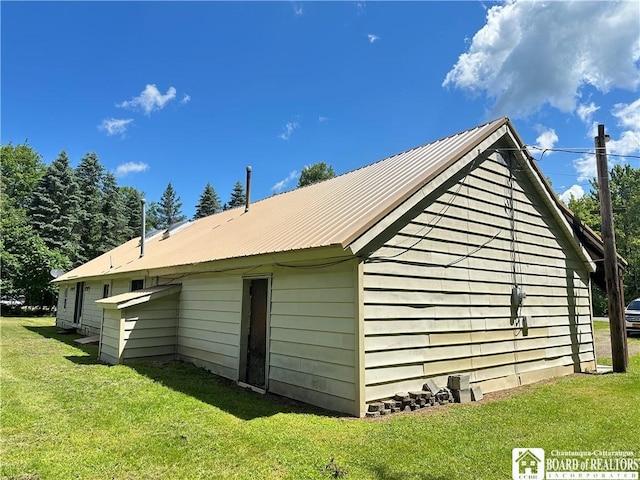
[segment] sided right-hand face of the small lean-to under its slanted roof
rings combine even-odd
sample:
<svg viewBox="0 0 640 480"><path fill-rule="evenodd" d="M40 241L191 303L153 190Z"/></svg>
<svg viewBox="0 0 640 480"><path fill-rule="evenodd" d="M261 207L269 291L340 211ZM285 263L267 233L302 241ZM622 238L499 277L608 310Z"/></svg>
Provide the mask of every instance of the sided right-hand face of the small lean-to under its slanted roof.
<svg viewBox="0 0 640 480"><path fill-rule="evenodd" d="M123 358L176 353L179 294L124 310Z"/></svg>

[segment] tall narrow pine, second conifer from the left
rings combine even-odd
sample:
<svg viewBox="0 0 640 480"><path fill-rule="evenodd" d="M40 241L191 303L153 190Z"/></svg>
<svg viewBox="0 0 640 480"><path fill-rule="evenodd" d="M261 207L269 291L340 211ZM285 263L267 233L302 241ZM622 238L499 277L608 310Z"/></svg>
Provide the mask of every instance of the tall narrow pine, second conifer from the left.
<svg viewBox="0 0 640 480"><path fill-rule="evenodd" d="M102 244L104 226L102 182L104 167L98 156L87 153L76 168L80 187L80 261L86 262L106 251Z"/></svg>

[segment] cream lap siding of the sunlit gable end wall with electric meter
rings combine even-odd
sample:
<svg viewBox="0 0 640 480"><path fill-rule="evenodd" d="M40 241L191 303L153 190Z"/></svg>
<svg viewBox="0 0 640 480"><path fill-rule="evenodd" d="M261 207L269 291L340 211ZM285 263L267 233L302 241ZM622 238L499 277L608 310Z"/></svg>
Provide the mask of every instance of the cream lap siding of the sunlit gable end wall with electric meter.
<svg viewBox="0 0 640 480"><path fill-rule="evenodd" d="M521 172L515 280L527 335L512 325L510 196L507 168L485 161L365 263L367 401L452 373L490 391L593 364L588 273Z"/></svg>

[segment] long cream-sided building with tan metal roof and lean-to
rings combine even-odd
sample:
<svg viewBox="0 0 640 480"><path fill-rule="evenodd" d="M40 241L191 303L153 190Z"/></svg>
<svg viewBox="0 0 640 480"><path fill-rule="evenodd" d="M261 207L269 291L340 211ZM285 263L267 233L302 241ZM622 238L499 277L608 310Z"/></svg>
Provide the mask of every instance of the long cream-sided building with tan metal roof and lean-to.
<svg viewBox="0 0 640 480"><path fill-rule="evenodd" d="M151 233L58 277L109 363L169 356L330 410L595 368L594 262L507 118Z"/></svg>

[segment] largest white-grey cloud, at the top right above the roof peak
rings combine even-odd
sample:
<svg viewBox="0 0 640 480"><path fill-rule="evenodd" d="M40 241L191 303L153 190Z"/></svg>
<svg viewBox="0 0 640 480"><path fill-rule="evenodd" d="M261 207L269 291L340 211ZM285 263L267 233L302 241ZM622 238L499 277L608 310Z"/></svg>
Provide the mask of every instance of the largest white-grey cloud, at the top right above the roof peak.
<svg viewBox="0 0 640 480"><path fill-rule="evenodd" d="M574 112L585 85L640 84L637 2L507 0L447 73L443 86L484 93L493 114L526 116L549 104Z"/></svg>

